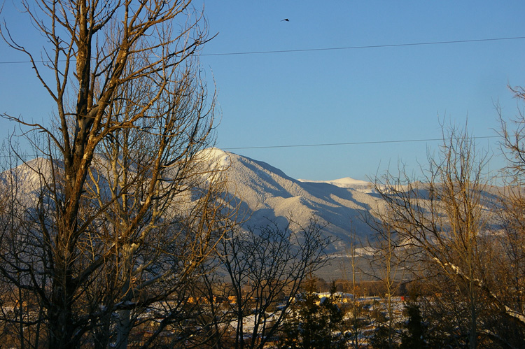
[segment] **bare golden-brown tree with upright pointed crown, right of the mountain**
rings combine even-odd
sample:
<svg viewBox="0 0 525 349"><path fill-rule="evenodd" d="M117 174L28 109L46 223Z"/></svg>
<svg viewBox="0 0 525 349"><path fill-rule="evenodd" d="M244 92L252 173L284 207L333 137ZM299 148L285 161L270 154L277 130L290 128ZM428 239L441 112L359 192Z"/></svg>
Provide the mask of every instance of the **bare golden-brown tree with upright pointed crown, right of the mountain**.
<svg viewBox="0 0 525 349"><path fill-rule="evenodd" d="M491 202L484 197L486 158L466 131L450 129L440 157L429 159L424 183L405 173L387 175L375 187L386 203L379 216L413 259L440 271L468 309L468 345L476 348L484 308L482 281L489 270L484 243Z"/></svg>

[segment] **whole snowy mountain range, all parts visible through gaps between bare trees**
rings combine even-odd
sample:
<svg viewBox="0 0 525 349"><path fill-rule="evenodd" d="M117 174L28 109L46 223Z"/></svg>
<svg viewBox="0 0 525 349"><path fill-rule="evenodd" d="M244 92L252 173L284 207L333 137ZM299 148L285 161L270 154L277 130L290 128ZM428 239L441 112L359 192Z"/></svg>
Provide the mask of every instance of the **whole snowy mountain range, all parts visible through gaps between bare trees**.
<svg viewBox="0 0 525 349"><path fill-rule="evenodd" d="M224 171L230 197L233 203L239 204L239 217L247 219L246 225L258 227L276 222L283 226L288 218L292 218L293 222L307 227L310 218L315 216L321 225L325 225L324 231L334 237L335 243L329 252L337 255L344 255L351 235L363 237L361 241L365 241L372 231L363 222L363 217L372 208L382 206L379 194L363 180L295 180L265 162L217 148L203 150L201 155L205 163ZM34 204L43 185L36 171L49 173L45 176L49 180L49 164L44 159L33 159L11 171L4 171L0 175L0 185L13 179L20 185L20 198L28 205ZM419 185L417 192L419 197L428 195L424 183ZM497 195L497 187L484 190L487 202L494 201Z"/></svg>

